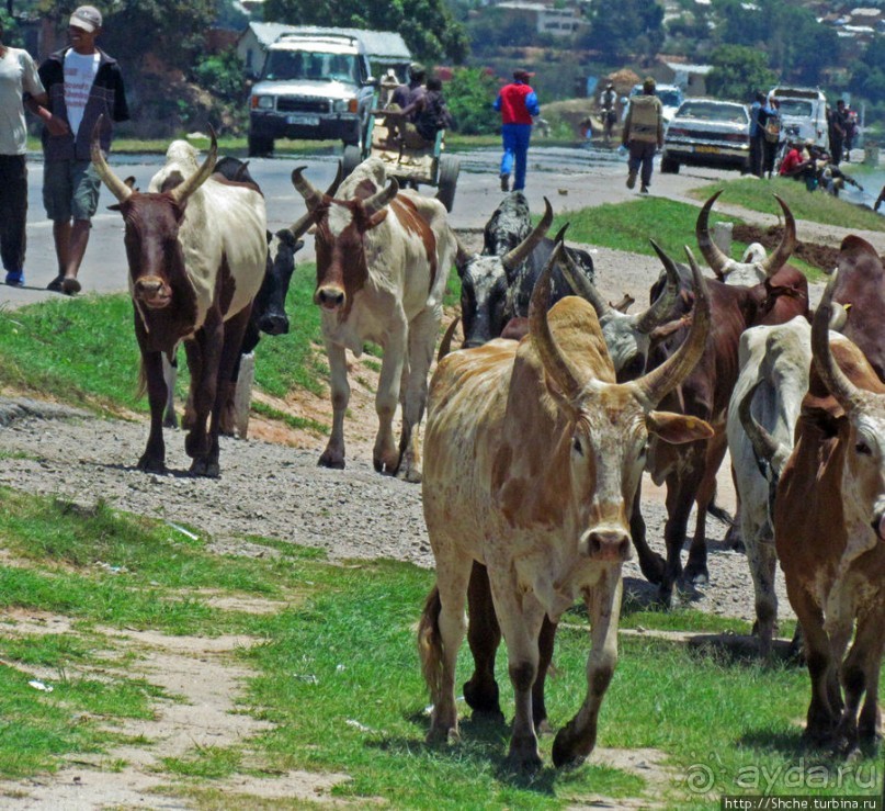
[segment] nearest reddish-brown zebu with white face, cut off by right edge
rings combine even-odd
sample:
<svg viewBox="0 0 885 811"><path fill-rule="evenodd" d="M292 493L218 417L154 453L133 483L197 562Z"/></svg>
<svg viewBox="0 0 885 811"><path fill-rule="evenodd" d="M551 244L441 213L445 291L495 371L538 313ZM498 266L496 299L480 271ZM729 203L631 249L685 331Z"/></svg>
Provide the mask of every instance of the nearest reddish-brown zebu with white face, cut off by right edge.
<svg viewBox="0 0 885 811"><path fill-rule="evenodd" d="M875 254L867 259L881 269ZM843 250L839 274L850 262ZM816 374L778 486L774 538L812 678L805 736L847 753L882 733L885 385L854 343L829 340L837 285L815 315Z"/></svg>

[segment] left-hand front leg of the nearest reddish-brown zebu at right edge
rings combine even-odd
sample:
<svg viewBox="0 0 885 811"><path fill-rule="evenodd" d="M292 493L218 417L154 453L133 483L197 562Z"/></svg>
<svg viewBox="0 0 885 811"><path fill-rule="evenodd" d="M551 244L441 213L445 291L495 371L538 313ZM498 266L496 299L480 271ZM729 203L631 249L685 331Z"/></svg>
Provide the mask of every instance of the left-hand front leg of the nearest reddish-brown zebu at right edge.
<svg viewBox="0 0 885 811"><path fill-rule="evenodd" d="M790 605L796 612L805 638L805 662L812 679L812 700L808 705L803 737L812 744L831 740L838 721L838 705L832 702L832 665L830 640L824 630L824 613L814 598L798 584L787 578L786 592ZM838 709L837 709L838 707Z"/></svg>

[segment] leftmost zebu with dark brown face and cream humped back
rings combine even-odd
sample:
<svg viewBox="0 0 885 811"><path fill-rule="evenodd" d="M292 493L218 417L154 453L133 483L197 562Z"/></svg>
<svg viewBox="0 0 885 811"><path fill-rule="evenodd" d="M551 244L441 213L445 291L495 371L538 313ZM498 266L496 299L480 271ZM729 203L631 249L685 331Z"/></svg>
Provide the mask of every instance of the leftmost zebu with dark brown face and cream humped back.
<svg viewBox="0 0 885 811"><path fill-rule="evenodd" d="M97 125L98 127L98 125ZM120 202L129 263L135 335L150 402L150 433L138 468L166 469L162 436L167 384L162 358L184 341L194 423L184 440L191 473L217 476L220 410L252 301L268 258L264 198L250 183L211 178L215 133L205 160L175 140L146 193L134 191L107 166L92 137L92 164Z"/></svg>

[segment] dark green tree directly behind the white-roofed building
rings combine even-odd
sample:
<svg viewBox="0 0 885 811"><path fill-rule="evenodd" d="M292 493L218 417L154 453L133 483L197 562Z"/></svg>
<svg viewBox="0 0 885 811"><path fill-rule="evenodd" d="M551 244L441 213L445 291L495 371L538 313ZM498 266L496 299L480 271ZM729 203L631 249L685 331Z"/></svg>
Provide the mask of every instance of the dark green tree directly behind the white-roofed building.
<svg viewBox="0 0 885 811"><path fill-rule="evenodd" d="M397 31L422 61L451 59L459 65L467 57L467 34L445 0L266 0L264 20Z"/></svg>

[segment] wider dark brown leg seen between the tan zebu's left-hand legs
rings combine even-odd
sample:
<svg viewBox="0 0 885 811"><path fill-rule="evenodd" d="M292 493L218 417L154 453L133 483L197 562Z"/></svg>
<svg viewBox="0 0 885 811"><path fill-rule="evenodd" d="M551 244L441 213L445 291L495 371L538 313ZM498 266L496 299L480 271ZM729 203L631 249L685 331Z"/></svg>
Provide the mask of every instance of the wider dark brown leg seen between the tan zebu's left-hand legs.
<svg viewBox="0 0 885 811"><path fill-rule="evenodd" d="M474 561L467 589L467 643L474 657L474 673L464 683L464 700L474 714L503 721L498 683L495 680L495 655L501 644L501 628L491 601L488 572Z"/></svg>

